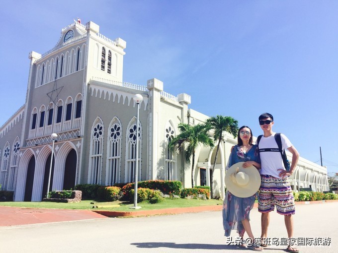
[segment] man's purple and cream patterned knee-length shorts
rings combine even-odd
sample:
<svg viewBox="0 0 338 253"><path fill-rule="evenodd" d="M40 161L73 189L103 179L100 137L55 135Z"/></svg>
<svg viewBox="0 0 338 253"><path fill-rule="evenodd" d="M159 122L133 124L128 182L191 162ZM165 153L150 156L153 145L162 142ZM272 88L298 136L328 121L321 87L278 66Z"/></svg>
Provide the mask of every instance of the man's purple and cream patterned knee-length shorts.
<svg viewBox="0 0 338 253"><path fill-rule="evenodd" d="M279 214L295 214L295 202L289 179L279 179L268 175L260 175L260 178L258 211L270 212L276 206Z"/></svg>

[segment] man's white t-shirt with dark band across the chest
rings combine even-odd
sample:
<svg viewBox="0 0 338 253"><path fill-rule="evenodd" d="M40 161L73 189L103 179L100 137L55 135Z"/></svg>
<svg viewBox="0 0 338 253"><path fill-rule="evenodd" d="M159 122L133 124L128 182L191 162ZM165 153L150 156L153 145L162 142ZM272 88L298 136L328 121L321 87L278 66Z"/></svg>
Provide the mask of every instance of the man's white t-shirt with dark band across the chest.
<svg viewBox="0 0 338 253"><path fill-rule="evenodd" d="M272 135L268 137L262 136L261 139L259 140L258 148L259 149L264 149L264 148L277 148L278 145L277 142L274 138L275 132L272 133ZM288 149L289 147L292 147L292 143L290 140L284 135L280 134L280 138L282 141L282 148L285 150ZM275 178L281 178L279 177L280 171L278 169L283 169L284 164L283 164L283 159L280 154L280 152L276 151L266 151L266 152L259 152L260 156L260 175L270 175Z"/></svg>

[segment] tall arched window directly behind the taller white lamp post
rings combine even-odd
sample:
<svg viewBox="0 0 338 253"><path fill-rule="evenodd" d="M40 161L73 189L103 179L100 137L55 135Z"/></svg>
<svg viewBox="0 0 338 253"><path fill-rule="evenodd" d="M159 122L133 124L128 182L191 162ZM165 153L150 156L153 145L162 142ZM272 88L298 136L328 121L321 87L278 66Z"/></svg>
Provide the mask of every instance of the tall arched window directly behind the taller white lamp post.
<svg viewBox="0 0 338 253"><path fill-rule="evenodd" d="M127 152L126 152L126 178L127 182L134 182L135 181L135 161L136 161L136 119L134 118L134 124L131 124L127 130ZM142 136L142 127L139 124L139 154L138 154L138 179L141 178L141 136Z"/></svg>

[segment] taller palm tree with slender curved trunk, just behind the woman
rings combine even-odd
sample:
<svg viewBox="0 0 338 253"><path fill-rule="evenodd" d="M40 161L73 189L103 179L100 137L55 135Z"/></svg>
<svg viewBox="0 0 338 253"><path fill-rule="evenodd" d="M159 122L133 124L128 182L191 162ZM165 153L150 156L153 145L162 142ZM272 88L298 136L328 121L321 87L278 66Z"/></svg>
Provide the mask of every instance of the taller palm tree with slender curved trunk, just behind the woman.
<svg viewBox="0 0 338 253"><path fill-rule="evenodd" d="M238 121L235 120L234 118L230 117L230 116L216 115L216 117L210 117L209 119L207 119L206 124L211 129L214 130L214 140L218 141L217 148L216 148L215 160L214 160L214 166L212 167L211 176L210 176L211 177L211 185L210 185L211 198L213 198L214 197L213 176L214 176L214 170L215 170L218 150L219 150L220 143L221 143L221 140L222 140L222 133L223 133L223 131L227 131L227 132L231 133L236 138L237 132L238 132Z"/></svg>

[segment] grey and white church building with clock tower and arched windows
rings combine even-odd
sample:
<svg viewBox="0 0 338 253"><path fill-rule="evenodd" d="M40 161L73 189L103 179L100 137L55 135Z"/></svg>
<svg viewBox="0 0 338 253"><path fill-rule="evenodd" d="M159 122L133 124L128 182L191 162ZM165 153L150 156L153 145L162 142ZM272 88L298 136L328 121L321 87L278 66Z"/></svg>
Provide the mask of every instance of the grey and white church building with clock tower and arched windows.
<svg viewBox="0 0 338 253"><path fill-rule="evenodd" d="M189 108L189 95L166 93L158 79L144 86L124 82L125 48L123 39L106 38L90 21L63 28L47 53L29 54L26 101L0 127L1 190L14 191L15 201L41 201L50 168L50 190L133 182L136 162L139 181L179 180L191 187L191 165L184 153L168 150L168 142L179 123L194 125L208 116ZM143 97L139 136L135 94ZM53 159L52 133L58 135ZM223 139L214 173L214 193L220 196L230 149L237 144L229 133ZM214 157L215 149L197 149L195 185L210 185ZM329 190L327 169L303 158L290 179L295 191Z"/></svg>

